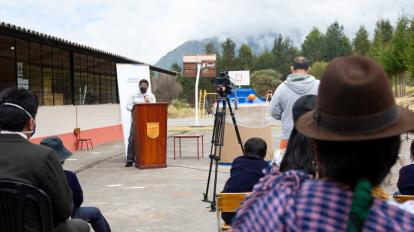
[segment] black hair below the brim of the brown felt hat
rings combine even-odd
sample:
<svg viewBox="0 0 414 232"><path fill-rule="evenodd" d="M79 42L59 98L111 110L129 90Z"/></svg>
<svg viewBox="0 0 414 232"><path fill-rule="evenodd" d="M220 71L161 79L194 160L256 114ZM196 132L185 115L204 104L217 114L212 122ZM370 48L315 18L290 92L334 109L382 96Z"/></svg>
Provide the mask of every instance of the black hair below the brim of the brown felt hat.
<svg viewBox="0 0 414 232"><path fill-rule="evenodd" d="M397 161L400 143L400 136L353 142L316 141L320 177L351 188L360 179L380 185Z"/></svg>

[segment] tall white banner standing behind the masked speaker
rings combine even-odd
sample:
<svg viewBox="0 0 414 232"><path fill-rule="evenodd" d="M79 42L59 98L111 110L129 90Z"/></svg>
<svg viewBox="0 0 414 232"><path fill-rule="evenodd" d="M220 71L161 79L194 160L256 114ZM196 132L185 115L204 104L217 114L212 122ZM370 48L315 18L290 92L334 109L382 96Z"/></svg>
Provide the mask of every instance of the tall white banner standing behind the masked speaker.
<svg viewBox="0 0 414 232"><path fill-rule="evenodd" d="M124 134L125 156L128 148L129 130L131 128L131 112L126 109L129 98L139 91L139 81L147 79L150 83L148 91L151 92L150 71L148 65L116 64L118 79L119 107L121 108L122 129Z"/></svg>

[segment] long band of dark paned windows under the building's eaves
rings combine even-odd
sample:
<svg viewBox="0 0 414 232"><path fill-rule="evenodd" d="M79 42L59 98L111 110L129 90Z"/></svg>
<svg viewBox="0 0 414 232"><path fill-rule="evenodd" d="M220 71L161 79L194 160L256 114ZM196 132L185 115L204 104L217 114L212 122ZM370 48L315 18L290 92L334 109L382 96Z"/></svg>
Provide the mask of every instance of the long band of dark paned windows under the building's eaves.
<svg viewBox="0 0 414 232"><path fill-rule="evenodd" d="M12 78L3 75L1 86L14 86L17 80L17 86L30 89L41 105L118 102L116 67L110 60L74 52L72 66L68 50L0 35L2 58L10 60ZM5 63L0 62L0 73Z"/></svg>

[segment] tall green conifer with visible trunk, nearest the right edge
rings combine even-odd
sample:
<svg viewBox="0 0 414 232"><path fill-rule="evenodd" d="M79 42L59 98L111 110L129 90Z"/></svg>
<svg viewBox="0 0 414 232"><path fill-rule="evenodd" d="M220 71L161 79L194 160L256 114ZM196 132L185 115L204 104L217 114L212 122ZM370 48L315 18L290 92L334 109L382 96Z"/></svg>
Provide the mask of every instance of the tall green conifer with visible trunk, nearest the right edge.
<svg viewBox="0 0 414 232"><path fill-rule="evenodd" d="M401 17L398 19L397 27L389 43L385 47L381 56L385 71L393 77L394 93L397 97L405 95L406 78L404 73L407 71L406 47L408 33L408 19Z"/></svg>

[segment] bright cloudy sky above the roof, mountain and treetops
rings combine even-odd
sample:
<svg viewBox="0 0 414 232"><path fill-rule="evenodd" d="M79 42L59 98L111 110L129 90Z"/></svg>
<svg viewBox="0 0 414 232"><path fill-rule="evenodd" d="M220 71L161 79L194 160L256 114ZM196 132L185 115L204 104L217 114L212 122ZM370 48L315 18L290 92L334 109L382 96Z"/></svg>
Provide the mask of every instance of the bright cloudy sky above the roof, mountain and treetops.
<svg viewBox="0 0 414 232"><path fill-rule="evenodd" d="M352 38L380 18L414 17L413 0L0 0L0 21L147 63L190 39L281 33L300 44L338 21Z"/></svg>

